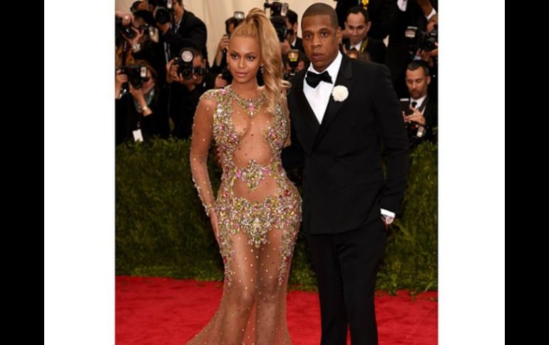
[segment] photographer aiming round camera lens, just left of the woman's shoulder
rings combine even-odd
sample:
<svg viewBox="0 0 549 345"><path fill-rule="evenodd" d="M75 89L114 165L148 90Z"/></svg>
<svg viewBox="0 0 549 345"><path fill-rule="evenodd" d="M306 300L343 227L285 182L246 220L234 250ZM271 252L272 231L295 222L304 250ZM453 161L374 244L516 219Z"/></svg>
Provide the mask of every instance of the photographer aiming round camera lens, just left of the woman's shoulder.
<svg viewBox="0 0 549 345"><path fill-rule="evenodd" d="M185 55L190 58L185 58ZM166 65L166 71L172 90L170 97L172 135L179 139L188 139L193 129L193 116L200 96L213 88L214 78L207 70L204 55L195 48L183 48L180 56L170 60Z"/></svg>

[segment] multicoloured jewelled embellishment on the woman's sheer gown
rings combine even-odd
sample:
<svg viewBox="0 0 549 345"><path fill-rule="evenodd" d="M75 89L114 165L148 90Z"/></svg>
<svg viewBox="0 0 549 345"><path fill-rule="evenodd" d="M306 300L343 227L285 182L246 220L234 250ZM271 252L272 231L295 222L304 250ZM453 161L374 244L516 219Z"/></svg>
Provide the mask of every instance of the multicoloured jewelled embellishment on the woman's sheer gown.
<svg viewBox="0 0 549 345"><path fill-rule="evenodd" d="M230 89L229 89L230 90ZM282 248L282 265L279 267L279 285L284 281L287 270L287 260L291 257L297 229L301 221L301 197L291 184L282 168L280 152L289 135L289 124L282 107L277 107L270 126L263 133L263 139L270 145L272 161L269 165L259 164L250 159L247 166L235 166L233 154L242 140L242 134L235 130L232 123L232 95L227 90L210 90L202 97L215 97L217 107L214 112L213 135L215 142L222 148L222 185L217 193L215 208L220 227L222 241L221 254L225 259L225 279L232 282L234 272L230 269L232 260L231 236L242 231L248 237L248 243L260 248L267 243L270 230L284 229ZM232 186L238 179L255 191L266 176L272 176L277 181L278 191L275 196L267 196L264 201L249 201L242 196L236 196Z"/></svg>

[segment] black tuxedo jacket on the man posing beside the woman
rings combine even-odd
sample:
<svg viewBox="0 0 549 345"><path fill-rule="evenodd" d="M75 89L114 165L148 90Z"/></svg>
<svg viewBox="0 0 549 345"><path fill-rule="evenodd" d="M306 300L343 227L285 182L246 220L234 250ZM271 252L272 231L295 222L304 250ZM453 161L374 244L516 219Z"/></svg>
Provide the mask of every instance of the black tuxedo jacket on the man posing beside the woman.
<svg viewBox="0 0 549 345"><path fill-rule="evenodd" d="M388 68L343 56L335 85L347 87L349 97L343 102L331 97L322 124L303 92L306 72L292 80L292 146L283 153L287 167L304 166L304 229L339 233L379 219L380 208L398 212L406 187L408 139Z"/></svg>

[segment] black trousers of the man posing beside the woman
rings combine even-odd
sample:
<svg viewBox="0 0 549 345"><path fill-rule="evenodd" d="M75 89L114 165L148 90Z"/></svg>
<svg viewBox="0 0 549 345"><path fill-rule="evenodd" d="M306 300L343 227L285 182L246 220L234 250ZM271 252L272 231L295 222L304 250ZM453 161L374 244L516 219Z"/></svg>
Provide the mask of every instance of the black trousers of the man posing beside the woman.
<svg viewBox="0 0 549 345"><path fill-rule="evenodd" d="M376 345L376 272L387 235L381 219L343 233L307 236L319 287L322 345Z"/></svg>

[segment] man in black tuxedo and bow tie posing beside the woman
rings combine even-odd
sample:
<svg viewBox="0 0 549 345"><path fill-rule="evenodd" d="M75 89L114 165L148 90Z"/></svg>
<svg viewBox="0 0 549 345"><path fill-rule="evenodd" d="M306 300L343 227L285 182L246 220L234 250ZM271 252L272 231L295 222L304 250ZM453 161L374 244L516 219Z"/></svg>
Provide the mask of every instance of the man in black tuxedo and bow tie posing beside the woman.
<svg viewBox="0 0 549 345"><path fill-rule="evenodd" d="M311 65L292 80L292 145L283 159L288 170L304 164L302 225L317 273L322 344L346 344L348 326L352 344L377 344L376 270L408 167L400 104L384 65L339 53L332 7L309 6L302 33Z"/></svg>

